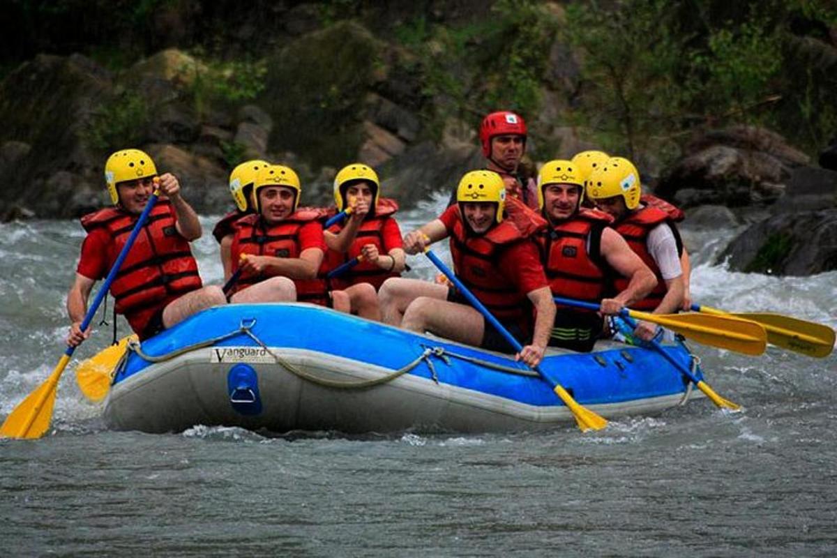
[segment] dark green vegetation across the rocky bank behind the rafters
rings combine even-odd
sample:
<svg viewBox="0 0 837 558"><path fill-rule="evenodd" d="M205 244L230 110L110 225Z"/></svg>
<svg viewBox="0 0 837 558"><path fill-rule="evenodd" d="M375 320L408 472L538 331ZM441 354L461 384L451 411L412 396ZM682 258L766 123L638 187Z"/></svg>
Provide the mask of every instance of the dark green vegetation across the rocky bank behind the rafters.
<svg viewBox="0 0 837 558"><path fill-rule="evenodd" d="M837 132L828 0L0 5L4 74L38 53L80 52L118 75L177 47L201 63L183 93L199 119L256 100L275 120L271 147L313 165L357 153L370 93L419 115L419 140L438 141L451 117L476 125L488 110L519 110L535 158L557 152L567 125L662 162L693 132L734 123L772 128L811 155ZM151 141L138 135L153 108L126 91L85 138L97 151Z"/></svg>

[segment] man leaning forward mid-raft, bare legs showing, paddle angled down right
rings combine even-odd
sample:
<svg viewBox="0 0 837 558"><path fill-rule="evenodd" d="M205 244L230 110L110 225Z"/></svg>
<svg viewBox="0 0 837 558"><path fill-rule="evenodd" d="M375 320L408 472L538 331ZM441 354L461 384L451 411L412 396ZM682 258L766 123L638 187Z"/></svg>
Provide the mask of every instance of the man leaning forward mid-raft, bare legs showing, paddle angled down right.
<svg viewBox="0 0 837 558"><path fill-rule="evenodd" d="M521 342L517 358L536 366L555 318L537 246L529 238L545 223L530 212L532 226L522 230L526 227L520 220L505 218L506 185L496 172L465 174L456 199L457 204L438 219L408 233L404 251L419 253L429 243L450 237L454 273ZM515 352L455 289L418 279L387 279L379 295L383 319L389 324L492 351Z"/></svg>

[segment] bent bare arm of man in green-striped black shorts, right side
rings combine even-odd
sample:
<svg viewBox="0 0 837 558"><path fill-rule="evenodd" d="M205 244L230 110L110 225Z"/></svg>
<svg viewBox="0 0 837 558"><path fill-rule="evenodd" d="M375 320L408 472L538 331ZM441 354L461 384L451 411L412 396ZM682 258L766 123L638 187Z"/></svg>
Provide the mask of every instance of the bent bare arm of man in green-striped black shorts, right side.
<svg viewBox="0 0 837 558"><path fill-rule="evenodd" d="M614 229L602 230L602 257L618 274L629 279L628 286L612 299L603 299L603 314L618 314L625 306L644 299L657 286L657 278L642 259L630 248L622 235Z"/></svg>

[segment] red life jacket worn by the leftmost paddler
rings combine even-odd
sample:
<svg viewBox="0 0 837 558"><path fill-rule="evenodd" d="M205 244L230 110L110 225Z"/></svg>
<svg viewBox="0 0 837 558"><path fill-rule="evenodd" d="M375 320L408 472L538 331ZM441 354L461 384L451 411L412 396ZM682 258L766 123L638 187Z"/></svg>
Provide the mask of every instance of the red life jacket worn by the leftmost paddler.
<svg viewBox="0 0 837 558"><path fill-rule="evenodd" d="M81 226L86 231L105 228L110 233L113 242L107 254L108 267L116 262L137 218L138 215L116 207L81 218ZM175 223L172 204L167 200L158 201L110 284L116 313L125 315L141 339L145 338L146 328L158 311L203 286L198 263L187 239L177 233Z"/></svg>

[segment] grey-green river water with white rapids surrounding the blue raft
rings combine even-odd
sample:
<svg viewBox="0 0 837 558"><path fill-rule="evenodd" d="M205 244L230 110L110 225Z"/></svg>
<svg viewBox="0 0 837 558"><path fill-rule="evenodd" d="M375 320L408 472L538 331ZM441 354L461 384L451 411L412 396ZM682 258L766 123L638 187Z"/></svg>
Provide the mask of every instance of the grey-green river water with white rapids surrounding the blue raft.
<svg viewBox="0 0 837 558"><path fill-rule="evenodd" d="M732 233L687 231L697 302L837 325L837 274L710 266ZM0 417L63 351L83 236L77 222L0 224ZM208 233L195 245L207 283L221 281L216 250ZM101 326L74 362L109 342ZM598 433L466 437L110 432L71 364L53 429L0 440L0 555L835 555L837 357L696 352L743 412L701 399Z"/></svg>

